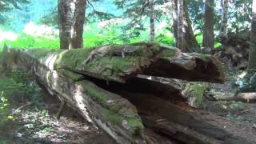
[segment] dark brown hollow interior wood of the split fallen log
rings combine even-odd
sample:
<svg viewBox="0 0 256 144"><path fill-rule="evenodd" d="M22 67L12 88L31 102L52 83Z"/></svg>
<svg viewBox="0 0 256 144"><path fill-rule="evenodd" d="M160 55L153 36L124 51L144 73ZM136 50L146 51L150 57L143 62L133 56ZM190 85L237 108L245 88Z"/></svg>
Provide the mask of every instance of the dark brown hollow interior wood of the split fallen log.
<svg viewBox="0 0 256 144"><path fill-rule="evenodd" d="M178 142L254 143L207 122L198 110L187 106L178 90L170 85L143 78L130 78L122 85L118 82L106 85L102 80L95 78L90 78L90 81L104 90L127 98L137 107L138 114L147 128Z"/></svg>

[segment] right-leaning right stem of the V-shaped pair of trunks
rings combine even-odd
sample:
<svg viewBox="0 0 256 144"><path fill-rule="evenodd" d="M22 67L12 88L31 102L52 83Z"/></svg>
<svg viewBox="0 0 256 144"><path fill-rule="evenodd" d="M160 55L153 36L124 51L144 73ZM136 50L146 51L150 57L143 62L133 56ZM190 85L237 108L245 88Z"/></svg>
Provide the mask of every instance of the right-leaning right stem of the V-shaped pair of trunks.
<svg viewBox="0 0 256 144"><path fill-rule="evenodd" d="M86 18L86 0L77 0L74 9L74 19L71 32L71 46L72 48L83 47L83 25Z"/></svg>

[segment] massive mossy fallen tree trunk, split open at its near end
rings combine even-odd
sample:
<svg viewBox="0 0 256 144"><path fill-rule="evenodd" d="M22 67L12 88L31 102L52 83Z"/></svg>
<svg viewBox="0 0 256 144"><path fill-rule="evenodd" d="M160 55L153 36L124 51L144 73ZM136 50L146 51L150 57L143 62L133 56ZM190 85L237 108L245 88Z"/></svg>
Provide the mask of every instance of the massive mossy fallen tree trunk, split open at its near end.
<svg viewBox="0 0 256 144"><path fill-rule="evenodd" d="M89 50L10 51L4 66L32 70L50 94L118 143L150 142L149 129L156 138L183 143L251 143L202 120L175 87L136 77L223 82L222 65L210 55L184 54L145 42Z"/></svg>

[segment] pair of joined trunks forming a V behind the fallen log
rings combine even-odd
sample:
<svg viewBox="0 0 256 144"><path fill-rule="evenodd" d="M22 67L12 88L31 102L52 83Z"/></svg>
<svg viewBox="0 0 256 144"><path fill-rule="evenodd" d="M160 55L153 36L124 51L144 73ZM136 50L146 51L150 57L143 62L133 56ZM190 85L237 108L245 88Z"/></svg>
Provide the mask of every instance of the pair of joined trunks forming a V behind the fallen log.
<svg viewBox="0 0 256 144"><path fill-rule="evenodd" d="M58 27L61 49L82 48L86 0L58 0Z"/></svg>

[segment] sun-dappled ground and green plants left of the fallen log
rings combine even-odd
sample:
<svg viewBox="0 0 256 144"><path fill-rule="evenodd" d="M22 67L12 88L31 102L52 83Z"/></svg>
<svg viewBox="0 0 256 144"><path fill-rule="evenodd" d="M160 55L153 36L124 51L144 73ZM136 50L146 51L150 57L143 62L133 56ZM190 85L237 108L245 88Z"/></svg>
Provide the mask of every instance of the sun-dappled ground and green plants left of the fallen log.
<svg viewBox="0 0 256 144"><path fill-rule="evenodd" d="M14 71L0 76L0 92L0 143L111 143L69 108L58 120L58 100L39 88L30 74Z"/></svg>

